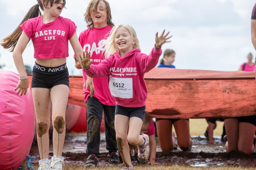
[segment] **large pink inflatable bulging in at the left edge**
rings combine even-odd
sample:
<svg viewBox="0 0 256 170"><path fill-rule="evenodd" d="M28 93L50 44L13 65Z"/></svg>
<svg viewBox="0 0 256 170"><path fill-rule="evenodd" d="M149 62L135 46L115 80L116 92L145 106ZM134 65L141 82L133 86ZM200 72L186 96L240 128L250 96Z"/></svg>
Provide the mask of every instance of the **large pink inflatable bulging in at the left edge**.
<svg viewBox="0 0 256 170"><path fill-rule="evenodd" d="M29 154L35 132L31 89L14 91L19 75L0 70L0 170L16 169Z"/></svg>

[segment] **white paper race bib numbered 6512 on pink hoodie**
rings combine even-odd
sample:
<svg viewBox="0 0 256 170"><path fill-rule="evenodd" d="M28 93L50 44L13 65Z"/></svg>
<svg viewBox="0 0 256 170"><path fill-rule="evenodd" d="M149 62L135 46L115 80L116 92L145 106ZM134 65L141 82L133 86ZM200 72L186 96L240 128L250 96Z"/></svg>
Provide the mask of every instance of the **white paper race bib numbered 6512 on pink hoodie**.
<svg viewBox="0 0 256 170"><path fill-rule="evenodd" d="M132 98L132 78L116 78L109 76L109 89L114 97Z"/></svg>

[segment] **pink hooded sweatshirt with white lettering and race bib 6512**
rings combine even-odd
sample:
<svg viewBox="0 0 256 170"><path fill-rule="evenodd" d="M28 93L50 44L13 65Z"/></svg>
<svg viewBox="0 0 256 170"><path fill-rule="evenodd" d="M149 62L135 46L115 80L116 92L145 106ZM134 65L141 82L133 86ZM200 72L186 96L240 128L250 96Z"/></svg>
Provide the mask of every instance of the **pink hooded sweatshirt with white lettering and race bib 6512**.
<svg viewBox="0 0 256 170"><path fill-rule="evenodd" d="M148 89L144 74L153 69L162 54L154 47L149 55L133 49L123 57L118 52L83 71L90 77L108 76L108 86L116 104L123 107L146 106Z"/></svg>

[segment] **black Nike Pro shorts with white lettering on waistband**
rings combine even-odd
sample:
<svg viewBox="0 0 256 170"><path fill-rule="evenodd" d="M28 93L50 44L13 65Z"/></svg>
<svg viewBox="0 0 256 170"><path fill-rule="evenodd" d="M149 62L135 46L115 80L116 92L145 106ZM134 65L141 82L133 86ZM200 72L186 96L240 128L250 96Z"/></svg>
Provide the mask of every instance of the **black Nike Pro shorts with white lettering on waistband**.
<svg viewBox="0 0 256 170"><path fill-rule="evenodd" d="M44 67L35 63L32 71L31 88L51 89L55 85L67 85L69 87L66 63L58 67Z"/></svg>

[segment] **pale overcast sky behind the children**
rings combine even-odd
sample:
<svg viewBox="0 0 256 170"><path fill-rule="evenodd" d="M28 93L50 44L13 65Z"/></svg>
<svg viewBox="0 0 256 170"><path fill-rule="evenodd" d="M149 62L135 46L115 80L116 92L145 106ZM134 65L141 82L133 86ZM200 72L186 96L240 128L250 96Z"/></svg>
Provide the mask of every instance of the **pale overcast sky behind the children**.
<svg viewBox="0 0 256 170"><path fill-rule="evenodd" d="M0 39L20 23L36 0L0 0ZM149 54L155 33L165 29L172 42L162 46L176 52L178 69L234 71L247 61L255 49L251 41L251 13L255 0L108 0L115 24L129 23L135 29L140 48ZM89 0L67 0L62 17L77 25L77 34L86 29L84 13ZM67 65L70 75L81 74L74 67L69 47ZM0 47L0 65L17 73L12 53ZM160 57L162 58L163 55ZM33 66L33 45L23 53L24 64Z"/></svg>

